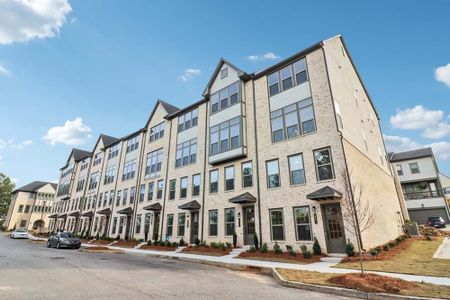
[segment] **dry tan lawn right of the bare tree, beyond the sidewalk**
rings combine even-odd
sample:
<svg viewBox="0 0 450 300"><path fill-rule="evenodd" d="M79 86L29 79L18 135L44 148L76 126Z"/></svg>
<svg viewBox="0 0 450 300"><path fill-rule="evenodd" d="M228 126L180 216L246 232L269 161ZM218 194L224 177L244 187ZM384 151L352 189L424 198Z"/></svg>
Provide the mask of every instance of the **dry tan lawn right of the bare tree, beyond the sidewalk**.
<svg viewBox="0 0 450 300"><path fill-rule="evenodd" d="M433 258L433 254L441 243L442 238L434 238L432 241L415 239L409 247L395 256L367 261L364 263L364 268L370 271L450 277L450 260ZM343 262L334 267L359 269L359 262Z"/></svg>

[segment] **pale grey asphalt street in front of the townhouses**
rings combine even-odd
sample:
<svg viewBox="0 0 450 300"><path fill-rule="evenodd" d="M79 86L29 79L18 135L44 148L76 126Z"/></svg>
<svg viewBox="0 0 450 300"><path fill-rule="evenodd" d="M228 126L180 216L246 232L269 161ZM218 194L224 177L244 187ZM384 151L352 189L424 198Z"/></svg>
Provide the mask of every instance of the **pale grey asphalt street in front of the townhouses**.
<svg viewBox="0 0 450 300"><path fill-rule="evenodd" d="M48 249L0 233L0 299L324 299L272 277L138 254ZM349 299L333 296L334 299Z"/></svg>

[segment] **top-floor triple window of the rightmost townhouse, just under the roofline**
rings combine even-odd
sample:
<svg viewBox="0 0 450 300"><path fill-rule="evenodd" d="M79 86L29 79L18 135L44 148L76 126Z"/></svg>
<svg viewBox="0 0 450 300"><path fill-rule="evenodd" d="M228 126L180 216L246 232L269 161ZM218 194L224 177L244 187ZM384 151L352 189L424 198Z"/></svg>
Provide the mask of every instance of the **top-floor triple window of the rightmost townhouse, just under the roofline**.
<svg viewBox="0 0 450 300"><path fill-rule="evenodd" d="M295 85L308 81L304 58L267 76L269 95L273 96Z"/></svg>

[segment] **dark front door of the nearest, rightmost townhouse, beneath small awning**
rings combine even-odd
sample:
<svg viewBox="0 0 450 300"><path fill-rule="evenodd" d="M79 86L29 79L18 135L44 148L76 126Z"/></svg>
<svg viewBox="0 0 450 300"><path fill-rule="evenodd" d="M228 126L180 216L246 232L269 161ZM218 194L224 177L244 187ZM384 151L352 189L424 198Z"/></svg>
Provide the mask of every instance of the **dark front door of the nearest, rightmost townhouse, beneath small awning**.
<svg viewBox="0 0 450 300"><path fill-rule="evenodd" d="M324 205L323 212L328 253L345 253L341 205L339 203Z"/></svg>

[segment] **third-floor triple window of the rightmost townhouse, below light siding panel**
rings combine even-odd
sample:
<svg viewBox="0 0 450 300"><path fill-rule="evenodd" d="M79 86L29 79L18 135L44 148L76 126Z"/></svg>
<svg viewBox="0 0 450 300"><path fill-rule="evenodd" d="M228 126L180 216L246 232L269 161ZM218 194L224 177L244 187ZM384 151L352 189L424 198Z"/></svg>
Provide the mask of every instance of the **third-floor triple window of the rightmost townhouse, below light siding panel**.
<svg viewBox="0 0 450 300"><path fill-rule="evenodd" d="M316 130L311 98L275 110L270 116L274 143Z"/></svg>

